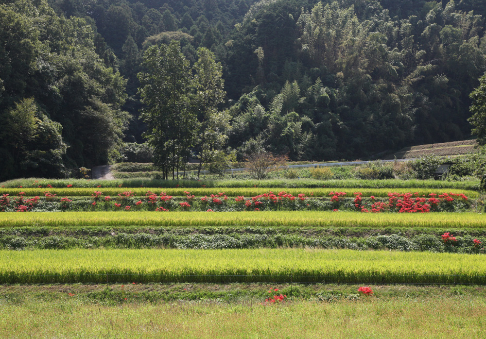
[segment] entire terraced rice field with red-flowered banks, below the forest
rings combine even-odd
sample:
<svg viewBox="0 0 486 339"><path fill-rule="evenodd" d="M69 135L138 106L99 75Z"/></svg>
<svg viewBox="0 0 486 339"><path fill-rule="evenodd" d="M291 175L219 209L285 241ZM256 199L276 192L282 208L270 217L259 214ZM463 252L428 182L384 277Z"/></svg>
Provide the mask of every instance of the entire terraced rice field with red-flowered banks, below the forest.
<svg viewBox="0 0 486 339"><path fill-rule="evenodd" d="M0 338L484 338L478 186L0 183Z"/></svg>

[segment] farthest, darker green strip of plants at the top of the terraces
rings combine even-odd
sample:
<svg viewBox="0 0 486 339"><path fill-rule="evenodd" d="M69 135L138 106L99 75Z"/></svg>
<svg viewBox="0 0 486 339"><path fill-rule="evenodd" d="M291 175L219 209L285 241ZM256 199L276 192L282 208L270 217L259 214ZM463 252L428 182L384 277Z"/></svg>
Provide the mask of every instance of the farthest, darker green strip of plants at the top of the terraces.
<svg viewBox="0 0 486 339"><path fill-rule="evenodd" d="M118 180L85 180L85 179L42 179L28 178L15 179L0 183L0 188L27 188L51 185L54 188L64 188L67 185L73 187L152 187L152 188L237 188L237 187L260 187L260 188L416 188L416 189L460 189L479 190L479 180L464 182L444 180L357 180L357 179L335 179L335 180L313 180L313 179L272 179L272 180L159 180L147 178L118 179Z"/></svg>

